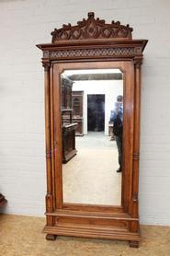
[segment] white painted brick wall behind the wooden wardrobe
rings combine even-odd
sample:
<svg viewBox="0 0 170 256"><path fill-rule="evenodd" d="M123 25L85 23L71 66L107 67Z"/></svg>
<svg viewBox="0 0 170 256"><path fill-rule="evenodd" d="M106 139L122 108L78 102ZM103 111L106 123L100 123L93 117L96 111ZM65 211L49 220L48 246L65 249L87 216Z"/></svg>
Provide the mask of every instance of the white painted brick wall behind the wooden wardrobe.
<svg viewBox="0 0 170 256"><path fill-rule="evenodd" d="M6 213L43 215L45 181L43 68L35 44L51 30L97 17L130 23L149 39L142 66L140 214L170 225L169 0L0 1L0 191Z"/></svg>

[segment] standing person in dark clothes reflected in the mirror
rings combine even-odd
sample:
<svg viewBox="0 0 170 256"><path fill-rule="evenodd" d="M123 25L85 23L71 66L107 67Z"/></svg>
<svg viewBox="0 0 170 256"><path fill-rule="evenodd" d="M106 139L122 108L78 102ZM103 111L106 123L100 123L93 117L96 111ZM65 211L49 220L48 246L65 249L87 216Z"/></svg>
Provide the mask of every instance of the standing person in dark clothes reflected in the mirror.
<svg viewBox="0 0 170 256"><path fill-rule="evenodd" d="M123 134L123 96L117 97L115 108L111 111L110 121L113 122L113 134L115 135L118 153L119 153L119 169L117 172L121 172L122 169L122 134Z"/></svg>

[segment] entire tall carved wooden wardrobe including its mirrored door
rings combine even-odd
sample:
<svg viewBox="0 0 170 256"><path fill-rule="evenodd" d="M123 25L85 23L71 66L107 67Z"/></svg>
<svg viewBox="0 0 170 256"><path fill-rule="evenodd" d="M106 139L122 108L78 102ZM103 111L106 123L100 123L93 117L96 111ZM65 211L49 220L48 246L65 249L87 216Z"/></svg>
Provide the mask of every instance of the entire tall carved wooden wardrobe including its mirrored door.
<svg viewBox="0 0 170 256"><path fill-rule="evenodd" d="M51 32L43 52L46 239L140 242L142 52L147 40L94 13Z"/></svg>

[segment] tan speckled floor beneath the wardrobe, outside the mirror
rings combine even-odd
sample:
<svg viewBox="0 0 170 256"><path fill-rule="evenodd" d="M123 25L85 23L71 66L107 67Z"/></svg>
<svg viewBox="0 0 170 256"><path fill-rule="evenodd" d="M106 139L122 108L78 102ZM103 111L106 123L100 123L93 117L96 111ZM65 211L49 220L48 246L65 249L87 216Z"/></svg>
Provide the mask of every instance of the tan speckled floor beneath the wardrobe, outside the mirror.
<svg viewBox="0 0 170 256"><path fill-rule="evenodd" d="M139 249L128 242L58 237L47 241L43 217L0 215L1 256L169 256L170 227L142 226Z"/></svg>

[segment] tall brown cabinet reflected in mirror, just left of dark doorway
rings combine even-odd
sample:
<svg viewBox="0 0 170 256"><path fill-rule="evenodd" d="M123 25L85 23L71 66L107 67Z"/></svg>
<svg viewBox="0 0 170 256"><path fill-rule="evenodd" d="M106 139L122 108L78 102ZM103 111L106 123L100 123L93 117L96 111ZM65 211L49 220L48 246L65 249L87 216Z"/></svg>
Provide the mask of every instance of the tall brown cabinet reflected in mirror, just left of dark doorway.
<svg viewBox="0 0 170 256"><path fill-rule="evenodd" d="M73 122L77 123L75 135L84 135L84 118L83 118L83 91L72 92L72 106L73 106Z"/></svg>

